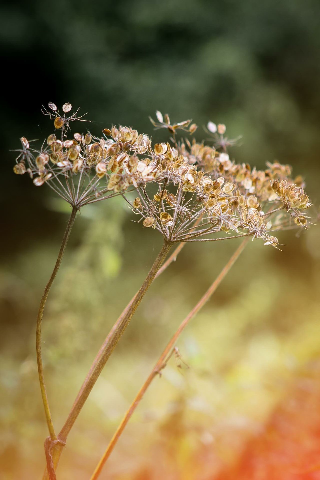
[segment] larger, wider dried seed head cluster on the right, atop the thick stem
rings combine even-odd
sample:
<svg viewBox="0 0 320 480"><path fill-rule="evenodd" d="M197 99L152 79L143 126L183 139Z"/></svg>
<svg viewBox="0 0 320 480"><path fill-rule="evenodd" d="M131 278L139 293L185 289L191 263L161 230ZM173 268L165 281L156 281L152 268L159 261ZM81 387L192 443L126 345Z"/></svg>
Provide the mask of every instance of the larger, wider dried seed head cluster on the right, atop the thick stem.
<svg viewBox="0 0 320 480"><path fill-rule="evenodd" d="M152 122L168 128L165 118L157 112L158 123ZM154 183L138 186L130 205L145 228L157 229L172 243L252 236L277 247L273 232L308 226L305 210L311 204L301 177L293 180L289 166L267 163L266 170L257 170L237 164L227 153L235 141L224 137L223 124L209 122L212 144L177 142L176 131L186 132L189 124L176 123L173 138L150 143L142 160L155 173Z"/></svg>

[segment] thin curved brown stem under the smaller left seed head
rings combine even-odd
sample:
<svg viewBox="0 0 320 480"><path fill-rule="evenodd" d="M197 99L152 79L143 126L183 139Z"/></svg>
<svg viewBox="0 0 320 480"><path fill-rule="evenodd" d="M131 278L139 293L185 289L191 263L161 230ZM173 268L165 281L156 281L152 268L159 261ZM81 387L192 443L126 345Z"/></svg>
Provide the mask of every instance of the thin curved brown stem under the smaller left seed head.
<svg viewBox="0 0 320 480"><path fill-rule="evenodd" d="M43 318L43 312L46 306L46 301L47 301L47 296L49 294L50 288L53 284L53 281L58 273L59 266L61 264L61 260L64 254L64 251L66 249L71 228L74 223L75 216L77 215L77 208L73 207L72 208L72 213L66 228L66 231L64 232L64 236L62 239L59 255L57 258L57 262L55 264L55 267L53 269L52 275L50 276L50 279L47 283L47 286L45 288L45 291L43 292L40 305L39 305L39 311L38 311L38 318L37 318L37 323L36 323L36 359L37 359L37 364L38 364L38 373L39 373L39 381L40 381L40 388L41 388L41 395L42 395L42 402L43 406L45 408L45 413L46 413L46 419L47 419L47 425L50 433L51 440L57 440L57 435L54 430L53 422L52 422L52 417L50 413L50 408L49 408L49 402L48 402L48 397L47 397L47 391L46 391L46 385L45 385L45 379L44 379L44 372L43 372L43 364L42 364L42 355L41 355L41 326L42 326L42 318Z"/></svg>

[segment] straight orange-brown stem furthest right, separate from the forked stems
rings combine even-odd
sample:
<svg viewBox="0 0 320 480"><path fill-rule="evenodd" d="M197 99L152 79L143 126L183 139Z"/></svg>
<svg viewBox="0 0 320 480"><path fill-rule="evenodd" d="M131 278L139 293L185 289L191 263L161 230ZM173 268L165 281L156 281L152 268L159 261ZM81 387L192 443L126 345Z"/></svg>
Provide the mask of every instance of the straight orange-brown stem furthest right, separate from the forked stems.
<svg viewBox="0 0 320 480"><path fill-rule="evenodd" d="M219 287L220 283L222 280L225 278L227 273L230 271L231 267L235 264L237 258L240 256L240 254L243 252L245 246L247 245L249 241L249 237L243 240L241 245L237 248L236 252L232 255L230 260L227 262L223 270L220 272L220 274L217 276L217 278L214 280L213 284L211 287L206 291L206 293L203 295L201 300L197 303L197 305L191 310L189 315L183 320L183 322L180 324L178 330L176 333L172 336L171 340L167 344L166 348L164 349L163 353L161 354L159 360L156 362L154 365L154 368L152 372L150 373L149 377L147 378L146 382L143 384L142 388L140 389L138 395L135 397L133 402L130 405L130 408L128 409L127 413L125 414L123 420L121 421L118 430L114 434L113 438L111 439L111 442L109 443L107 450L105 451L104 455L102 456L98 466L95 469L94 474L92 475L90 480L96 480L101 471L102 468L104 467L105 463L107 462L107 459L111 455L115 445L117 444L121 433L124 431L127 423L129 422L133 412L135 409L138 407L139 403L142 400L143 395L145 394L146 390L148 389L149 385L152 383L154 380L154 377L161 372L163 368L165 368L166 363L168 361L168 357L171 357L171 350L174 348L174 345L182 333L182 331L186 328L186 326L189 324L190 320L192 320L195 315L201 310L201 308L205 305L205 303L210 300L212 297L213 293L216 291L216 289Z"/></svg>

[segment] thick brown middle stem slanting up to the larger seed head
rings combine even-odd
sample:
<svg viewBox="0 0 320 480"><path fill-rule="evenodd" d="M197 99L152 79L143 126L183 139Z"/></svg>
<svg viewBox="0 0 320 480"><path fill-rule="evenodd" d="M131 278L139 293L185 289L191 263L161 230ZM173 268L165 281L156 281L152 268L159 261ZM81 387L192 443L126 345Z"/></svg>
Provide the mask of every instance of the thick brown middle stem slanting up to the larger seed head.
<svg viewBox="0 0 320 480"><path fill-rule="evenodd" d="M116 345L118 344L121 336L125 332L127 326L130 323L131 318L133 317L135 311L137 310L138 306L142 302L142 299L147 292L148 288L152 284L156 273L158 272L159 268L161 267L162 263L164 262L167 253L171 249L171 244L165 242L161 251L159 252L154 264L147 275L146 279L144 280L142 287L130 301L128 306L125 310L121 313L119 319L112 327L109 335L107 336L105 342L103 343L102 347L100 348L89 373L86 376L86 379L78 393L77 398L71 408L71 412L69 414L68 419L66 420L64 426L62 427L61 432L58 435L59 442L54 445L52 449L52 457L53 457L53 464L54 468L56 469L59 463L59 458L61 456L64 444L66 443L67 437L71 428L74 425L74 422L77 420L79 413L81 412L84 403L86 402L91 390L93 389L95 382L99 378L100 373L102 372L104 366L107 363L107 360L113 353ZM47 479L47 472L45 472L44 479Z"/></svg>

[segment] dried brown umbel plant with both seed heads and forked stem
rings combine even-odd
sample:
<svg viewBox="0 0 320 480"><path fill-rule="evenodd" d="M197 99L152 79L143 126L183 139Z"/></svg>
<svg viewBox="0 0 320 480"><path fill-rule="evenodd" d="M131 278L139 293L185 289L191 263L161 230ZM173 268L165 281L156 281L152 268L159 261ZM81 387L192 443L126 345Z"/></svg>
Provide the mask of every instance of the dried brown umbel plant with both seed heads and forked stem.
<svg viewBox="0 0 320 480"><path fill-rule="evenodd" d="M191 241L241 237L247 241L252 237L252 240L261 238L265 245L278 248L275 231L308 227L308 216L304 211L310 202L303 190L303 180L301 177L293 180L288 166L274 163L267 164L266 170L257 170L231 160L227 149L237 139L225 137L226 127L223 124L216 126L213 122L208 123L207 133L212 135L209 144L188 138L197 130L197 125L191 120L172 124L169 116L163 117L160 112L156 112L157 121L151 121L155 129L166 129L169 135L166 143L154 144L147 135L139 135L136 130L122 126L104 129L102 138L93 137L87 132L75 133L72 139L67 139L71 131L70 123L85 120L77 116L78 112L70 114L70 104L63 106L62 115L54 104L50 103L49 108L53 113L47 110L44 113L54 120L56 130L61 129L61 140L52 134L46 146L43 144L35 149L22 138L23 147L19 150L14 172L28 172L36 186L47 184L72 206L58 260L40 303L36 335L40 385L50 432L45 444L45 478L54 480L69 432L97 378L154 278L176 259L183 245ZM185 138L178 139L179 132L183 132ZM133 190L137 196L130 200L127 193ZM49 410L42 368L43 310L77 211L87 204L116 195L126 200L132 212L140 217L138 222L142 222L143 227L153 228L162 235L164 244L141 288L100 348L69 417L57 435ZM178 248L164 264L168 252L177 244ZM230 260L230 267L236 257ZM214 288L209 291L213 293ZM199 302L199 305L202 304L203 299ZM171 343L169 345L171 348ZM167 357L169 352L165 352ZM164 360L161 357L160 362Z"/></svg>

